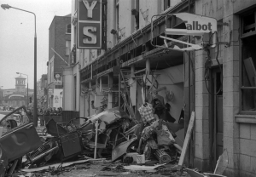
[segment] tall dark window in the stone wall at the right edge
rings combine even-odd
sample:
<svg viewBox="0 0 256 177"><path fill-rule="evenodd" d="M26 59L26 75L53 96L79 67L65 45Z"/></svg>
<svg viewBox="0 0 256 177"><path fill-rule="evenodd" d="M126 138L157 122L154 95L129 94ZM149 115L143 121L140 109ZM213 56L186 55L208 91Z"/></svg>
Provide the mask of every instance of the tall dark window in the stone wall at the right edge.
<svg viewBox="0 0 256 177"><path fill-rule="evenodd" d="M256 112L255 10L241 22L241 111Z"/></svg>

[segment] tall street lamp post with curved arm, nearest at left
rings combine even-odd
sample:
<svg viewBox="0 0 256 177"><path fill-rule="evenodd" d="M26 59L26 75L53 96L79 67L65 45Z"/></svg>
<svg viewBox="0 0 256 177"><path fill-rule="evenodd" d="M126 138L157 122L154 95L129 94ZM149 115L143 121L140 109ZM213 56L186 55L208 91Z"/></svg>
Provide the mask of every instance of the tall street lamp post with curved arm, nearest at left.
<svg viewBox="0 0 256 177"><path fill-rule="evenodd" d="M17 10L21 10L23 12L27 12L30 14L33 14L35 17L35 36L34 36L34 106L33 106L33 123L34 126L37 127L38 126L38 117L37 117L37 106L38 106L38 100L37 100L37 28L36 28L36 14L34 14L33 12L27 11L27 10L23 10L23 9L18 9L18 8L14 8L12 6L9 6L8 4L2 4L1 7L5 10L5 9L17 9Z"/></svg>

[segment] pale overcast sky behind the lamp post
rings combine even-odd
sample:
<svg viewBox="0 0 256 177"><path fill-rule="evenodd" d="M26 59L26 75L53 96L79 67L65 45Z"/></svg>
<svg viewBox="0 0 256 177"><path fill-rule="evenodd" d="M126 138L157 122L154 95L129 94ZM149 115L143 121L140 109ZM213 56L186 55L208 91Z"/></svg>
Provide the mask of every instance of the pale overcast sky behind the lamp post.
<svg viewBox="0 0 256 177"><path fill-rule="evenodd" d="M71 14L71 3L72 0L0 0L0 4L31 11L37 16L37 80L47 73L50 23L55 15ZM16 72L28 75L28 88L33 88L34 36L33 14L0 8L0 88L15 88L15 77L20 76Z"/></svg>

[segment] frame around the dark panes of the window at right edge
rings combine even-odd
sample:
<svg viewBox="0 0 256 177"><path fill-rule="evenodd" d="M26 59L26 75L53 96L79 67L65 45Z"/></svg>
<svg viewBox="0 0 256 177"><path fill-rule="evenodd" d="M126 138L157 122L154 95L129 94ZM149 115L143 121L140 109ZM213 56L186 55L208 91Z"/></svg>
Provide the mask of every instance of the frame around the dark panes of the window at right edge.
<svg viewBox="0 0 256 177"><path fill-rule="evenodd" d="M253 13L254 14L254 27L255 27L255 30L252 31L252 32L247 32L247 33L243 33L244 31L244 18L248 15L248 14L251 14ZM240 26L240 29L239 29L239 32L240 32L240 37L239 37L239 51L240 51L240 54L239 54L239 99L240 99L240 104L239 104L239 112L240 114L243 114L243 115L256 115L256 110L255 111L250 111L250 110L243 110L243 90L246 90L246 89L250 89L250 90L253 90L253 89L256 89L256 86L254 87L243 87L243 67L244 67L244 64L243 64L243 43L242 41L247 38L247 37L253 37L256 35L256 9L251 9L251 10L248 10L246 13L244 14L241 14L240 15L240 18L239 18L239 26ZM255 107L256 108L256 107Z"/></svg>

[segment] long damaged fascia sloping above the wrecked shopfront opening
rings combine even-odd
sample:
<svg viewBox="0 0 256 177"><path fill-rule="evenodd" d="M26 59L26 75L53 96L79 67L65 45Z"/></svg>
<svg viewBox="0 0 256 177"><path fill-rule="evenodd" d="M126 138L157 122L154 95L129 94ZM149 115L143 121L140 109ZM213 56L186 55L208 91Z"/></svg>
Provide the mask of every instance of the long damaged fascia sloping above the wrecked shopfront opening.
<svg viewBox="0 0 256 177"><path fill-rule="evenodd" d="M168 13L178 13L186 9L188 9L188 1L183 1L177 4L176 7L170 9ZM165 35L166 26L173 28L179 28L180 26L185 27L184 22L179 19L172 20L172 18L169 18L166 20L165 17L159 17L154 20L154 43L159 46L165 46L164 40L161 39L160 36ZM113 66L120 65L121 67L128 67L131 66L131 64L136 64L136 70L144 68L144 62L147 58L150 59L150 62L152 62L151 66L153 67L154 65L156 66L157 61L159 61L158 69L183 64L182 52L154 48L154 46L151 45L151 37L151 25L148 24L148 26L131 34L130 37L127 37L112 49L108 49L105 54L80 71L81 83L87 83L91 79L96 79L97 77L102 77L112 72ZM176 38L186 41L186 37ZM172 45L173 43L176 42L170 42L168 45ZM179 43L177 46L183 48L183 44Z"/></svg>

